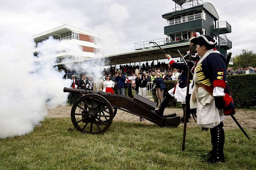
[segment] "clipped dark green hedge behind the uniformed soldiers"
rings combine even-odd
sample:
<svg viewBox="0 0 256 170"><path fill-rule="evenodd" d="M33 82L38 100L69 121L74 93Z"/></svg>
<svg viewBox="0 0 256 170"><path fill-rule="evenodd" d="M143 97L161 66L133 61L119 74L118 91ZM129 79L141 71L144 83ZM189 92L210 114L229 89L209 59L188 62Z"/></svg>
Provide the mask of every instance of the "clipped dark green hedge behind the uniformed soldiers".
<svg viewBox="0 0 256 170"><path fill-rule="evenodd" d="M227 76L228 85L232 94L236 108L251 108L256 106L256 74L239 74ZM166 89L172 89L175 81L164 81ZM166 91L167 91L166 90ZM156 92L153 92L153 98L158 103ZM174 97L169 103L169 107L181 107Z"/></svg>

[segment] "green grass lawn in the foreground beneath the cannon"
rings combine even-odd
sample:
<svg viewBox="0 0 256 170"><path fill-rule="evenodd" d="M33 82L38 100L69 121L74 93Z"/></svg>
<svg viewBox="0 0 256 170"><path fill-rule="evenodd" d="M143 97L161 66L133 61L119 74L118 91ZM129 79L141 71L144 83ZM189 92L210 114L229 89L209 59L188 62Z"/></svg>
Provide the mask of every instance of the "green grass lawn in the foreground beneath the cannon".
<svg viewBox="0 0 256 170"><path fill-rule="evenodd" d="M102 135L82 134L70 118L48 118L32 133L0 139L0 169L255 169L255 130L225 131L225 163L205 164L211 150L210 132L183 126L114 121Z"/></svg>

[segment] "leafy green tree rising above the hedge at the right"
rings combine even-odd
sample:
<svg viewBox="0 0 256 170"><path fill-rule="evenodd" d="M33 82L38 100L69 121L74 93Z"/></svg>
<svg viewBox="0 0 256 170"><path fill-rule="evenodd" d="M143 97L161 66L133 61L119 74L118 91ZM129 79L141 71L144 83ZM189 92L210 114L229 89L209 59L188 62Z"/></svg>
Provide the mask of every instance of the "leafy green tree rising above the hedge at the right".
<svg viewBox="0 0 256 170"><path fill-rule="evenodd" d="M234 69L236 69L237 66L256 67L256 53L253 53L253 51L248 51L246 49L243 49L242 53L240 55L236 55L233 58L233 66L232 67L234 67Z"/></svg>

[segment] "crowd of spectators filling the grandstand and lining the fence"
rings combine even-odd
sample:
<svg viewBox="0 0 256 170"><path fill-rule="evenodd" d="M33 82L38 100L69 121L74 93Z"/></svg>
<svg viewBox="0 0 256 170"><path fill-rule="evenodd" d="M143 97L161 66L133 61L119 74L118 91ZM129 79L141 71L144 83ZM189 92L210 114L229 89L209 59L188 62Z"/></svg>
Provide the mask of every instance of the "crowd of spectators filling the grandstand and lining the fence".
<svg viewBox="0 0 256 170"><path fill-rule="evenodd" d="M177 61L179 62L179 61ZM138 70L137 70L138 69ZM137 71L136 71L137 70ZM137 72L138 74L135 74ZM146 97L146 84L152 83L156 79L156 75L160 75L164 81L168 80L178 80L178 77L182 70L174 69L173 67L169 67L168 64L165 62L158 62L156 65L151 62L148 64L142 64L140 67L139 65L120 65L119 69L115 69L114 67L108 67L107 69L104 68L102 78L93 78L90 76L86 76L85 74L82 76L81 80L76 80L75 75L72 75L72 84L71 88L81 88L81 89L91 89L94 91L105 91L106 88L113 88L116 82L118 94L124 95L124 88L127 87L127 84L131 83L132 89L135 89L137 94ZM256 67L246 66L246 67L237 67L236 70L233 67L227 68L227 75L235 75L235 74L256 74ZM134 80L129 80L129 76L135 76ZM136 78L136 79L135 79ZM125 81L124 81L125 79ZM106 81L106 82L104 82ZM112 84L107 86L107 83L111 82ZM104 84L104 83L105 84ZM151 87L152 88L152 87ZM110 90L111 90L110 89ZM113 93L113 91L111 90ZM69 96L70 103L74 103L76 99L76 94L71 94ZM73 99L74 98L74 99ZM161 96L158 97L161 103ZM73 99L73 100L72 100Z"/></svg>

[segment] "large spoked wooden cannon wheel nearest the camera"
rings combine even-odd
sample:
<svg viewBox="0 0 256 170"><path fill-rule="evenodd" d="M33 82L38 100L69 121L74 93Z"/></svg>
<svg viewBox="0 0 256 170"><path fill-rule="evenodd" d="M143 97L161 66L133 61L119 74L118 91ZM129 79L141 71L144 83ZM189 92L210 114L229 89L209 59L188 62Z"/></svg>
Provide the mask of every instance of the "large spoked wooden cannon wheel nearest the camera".
<svg viewBox="0 0 256 170"><path fill-rule="evenodd" d="M112 124L113 109L106 98L97 94L87 94L74 103L71 121L77 131L104 133Z"/></svg>

